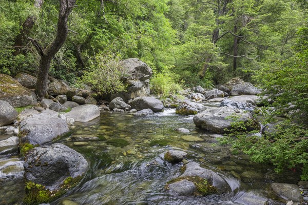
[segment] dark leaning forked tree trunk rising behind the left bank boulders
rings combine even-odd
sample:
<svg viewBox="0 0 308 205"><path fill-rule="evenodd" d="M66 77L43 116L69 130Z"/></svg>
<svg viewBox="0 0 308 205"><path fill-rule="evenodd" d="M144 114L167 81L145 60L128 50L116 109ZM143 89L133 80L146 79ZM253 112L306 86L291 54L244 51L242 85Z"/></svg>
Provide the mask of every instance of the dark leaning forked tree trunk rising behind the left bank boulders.
<svg viewBox="0 0 308 205"><path fill-rule="evenodd" d="M39 99L42 99L47 92L47 80L48 72L50 68L50 63L54 55L60 50L63 46L65 39L68 33L67 19L72 11L76 0L59 0L60 9L59 9L59 19L57 23L57 32L53 42L47 46L45 49L38 44L35 39L29 38L36 48L38 54L41 56L40 60L40 69L37 74L36 81L36 93Z"/></svg>

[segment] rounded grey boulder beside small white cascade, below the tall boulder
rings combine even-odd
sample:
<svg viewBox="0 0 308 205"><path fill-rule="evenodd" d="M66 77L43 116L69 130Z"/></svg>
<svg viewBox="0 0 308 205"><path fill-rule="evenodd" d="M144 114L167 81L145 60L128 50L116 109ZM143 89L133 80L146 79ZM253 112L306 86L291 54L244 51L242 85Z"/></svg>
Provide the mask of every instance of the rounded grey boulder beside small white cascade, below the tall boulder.
<svg viewBox="0 0 308 205"><path fill-rule="evenodd" d="M162 112L163 103L154 97L136 97L131 101L132 108L136 110L151 109L154 112Z"/></svg>

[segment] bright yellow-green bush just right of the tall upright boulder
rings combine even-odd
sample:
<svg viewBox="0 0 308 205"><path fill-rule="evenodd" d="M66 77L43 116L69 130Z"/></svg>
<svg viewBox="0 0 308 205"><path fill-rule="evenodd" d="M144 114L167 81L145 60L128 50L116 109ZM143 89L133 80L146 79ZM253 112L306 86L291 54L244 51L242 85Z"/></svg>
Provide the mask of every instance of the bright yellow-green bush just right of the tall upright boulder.
<svg viewBox="0 0 308 205"><path fill-rule="evenodd" d="M174 66L167 67L161 73L157 73L151 78L150 85L153 94L158 94L162 98L166 98L169 94L176 94L182 90L181 83L178 83L180 77L170 71L172 68Z"/></svg>

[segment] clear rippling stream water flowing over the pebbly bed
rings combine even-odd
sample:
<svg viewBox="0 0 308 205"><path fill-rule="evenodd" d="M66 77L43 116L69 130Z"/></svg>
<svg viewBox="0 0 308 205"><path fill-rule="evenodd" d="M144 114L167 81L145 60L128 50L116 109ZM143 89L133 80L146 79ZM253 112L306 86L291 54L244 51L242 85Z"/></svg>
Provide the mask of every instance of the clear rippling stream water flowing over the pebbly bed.
<svg viewBox="0 0 308 205"><path fill-rule="evenodd" d="M145 117L102 113L91 122L75 123L60 142L81 153L89 171L81 185L51 204L262 204L277 199L269 191L271 182L297 183L297 173L276 174L273 167L251 163L246 155L233 155L218 143L217 135L195 128L192 117L166 109ZM190 133L181 134L177 128ZM162 153L170 149L185 151L187 160L220 174L232 192L205 197L168 194L166 182L179 176L183 166L163 160ZM23 190L22 179L0 181L0 204L20 204Z"/></svg>

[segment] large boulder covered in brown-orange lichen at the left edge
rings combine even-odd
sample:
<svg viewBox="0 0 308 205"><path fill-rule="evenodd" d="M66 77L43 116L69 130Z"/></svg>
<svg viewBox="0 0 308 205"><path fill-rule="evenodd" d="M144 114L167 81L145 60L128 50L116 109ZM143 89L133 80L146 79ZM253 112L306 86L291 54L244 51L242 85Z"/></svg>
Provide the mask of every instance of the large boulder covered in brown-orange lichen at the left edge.
<svg viewBox="0 0 308 205"><path fill-rule="evenodd" d="M7 101L14 108L36 105L34 91L23 87L9 75L0 73L0 99Z"/></svg>

